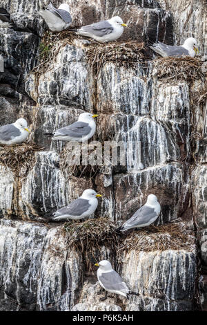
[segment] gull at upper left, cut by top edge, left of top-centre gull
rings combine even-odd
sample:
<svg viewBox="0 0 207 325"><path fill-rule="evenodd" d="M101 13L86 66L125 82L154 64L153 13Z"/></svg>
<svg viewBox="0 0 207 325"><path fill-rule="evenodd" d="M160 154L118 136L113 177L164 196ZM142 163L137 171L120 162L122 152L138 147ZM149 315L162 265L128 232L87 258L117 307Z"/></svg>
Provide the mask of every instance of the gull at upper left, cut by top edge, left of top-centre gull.
<svg viewBox="0 0 207 325"><path fill-rule="evenodd" d="M43 19L45 19L48 28L52 30L52 32L61 32L61 30L65 30L72 23L70 8L66 3L62 3L58 9L56 9L50 2L48 7L43 8L39 13Z"/></svg>

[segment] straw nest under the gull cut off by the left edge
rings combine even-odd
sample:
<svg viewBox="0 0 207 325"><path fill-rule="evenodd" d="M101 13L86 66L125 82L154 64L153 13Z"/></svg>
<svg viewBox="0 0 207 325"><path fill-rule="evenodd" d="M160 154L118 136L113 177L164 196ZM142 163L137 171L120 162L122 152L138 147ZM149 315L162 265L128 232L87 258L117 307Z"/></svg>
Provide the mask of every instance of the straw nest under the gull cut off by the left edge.
<svg viewBox="0 0 207 325"><path fill-rule="evenodd" d="M0 145L0 165L10 168L15 176L26 176L29 169L34 165L34 152L43 148L34 143L21 145Z"/></svg>

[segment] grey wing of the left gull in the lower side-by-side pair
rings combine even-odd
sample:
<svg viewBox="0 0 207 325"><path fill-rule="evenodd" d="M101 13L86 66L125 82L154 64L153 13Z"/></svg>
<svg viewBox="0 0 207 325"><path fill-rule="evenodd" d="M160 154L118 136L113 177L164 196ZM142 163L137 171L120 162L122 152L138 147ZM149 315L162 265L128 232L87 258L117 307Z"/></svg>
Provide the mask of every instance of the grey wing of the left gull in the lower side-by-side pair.
<svg viewBox="0 0 207 325"><path fill-rule="evenodd" d="M71 216L81 216L90 207L89 201L84 198L77 198L77 200L72 201L67 207L61 207L61 209L55 212L55 216L63 216L68 214Z"/></svg>

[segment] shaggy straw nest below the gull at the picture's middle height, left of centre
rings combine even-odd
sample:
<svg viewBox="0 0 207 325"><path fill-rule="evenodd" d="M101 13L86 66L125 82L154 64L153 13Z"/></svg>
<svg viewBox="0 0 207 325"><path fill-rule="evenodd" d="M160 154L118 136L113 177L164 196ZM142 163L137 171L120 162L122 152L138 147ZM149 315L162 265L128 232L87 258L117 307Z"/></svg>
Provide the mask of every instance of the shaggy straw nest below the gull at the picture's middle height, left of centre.
<svg viewBox="0 0 207 325"><path fill-rule="evenodd" d="M87 161L85 161L86 155L83 156L83 154L80 154L79 148L81 149L81 152L88 153ZM96 152L96 148L94 147L94 145L90 146L90 144L88 145L80 144L80 147L75 147L75 148L74 147L68 148L68 146L66 145L66 147L61 151L60 154L61 171L63 172L63 174L65 174L68 177L68 179L70 178L70 176L76 176L76 177L86 176L88 178L94 178L100 169L100 165L98 164L98 162L97 165L90 165L90 154L96 156L97 158L102 157L102 156L98 157L95 154L95 152ZM92 162L94 162L93 159Z"/></svg>

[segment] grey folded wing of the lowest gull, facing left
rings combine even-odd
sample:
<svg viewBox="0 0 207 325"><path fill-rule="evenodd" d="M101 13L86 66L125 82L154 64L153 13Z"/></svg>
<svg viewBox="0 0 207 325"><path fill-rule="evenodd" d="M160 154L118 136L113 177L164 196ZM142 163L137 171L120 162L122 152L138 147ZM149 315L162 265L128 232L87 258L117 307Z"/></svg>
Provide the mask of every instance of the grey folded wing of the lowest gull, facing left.
<svg viewBox="0 0 207 325"><path fill-rule="evenodd" d="M103 284L104 288L108 290L118 290L128 293L129 289L126 283L121 279L120 275L115 270L111 272L102 273L99 281Z"/></svg>

